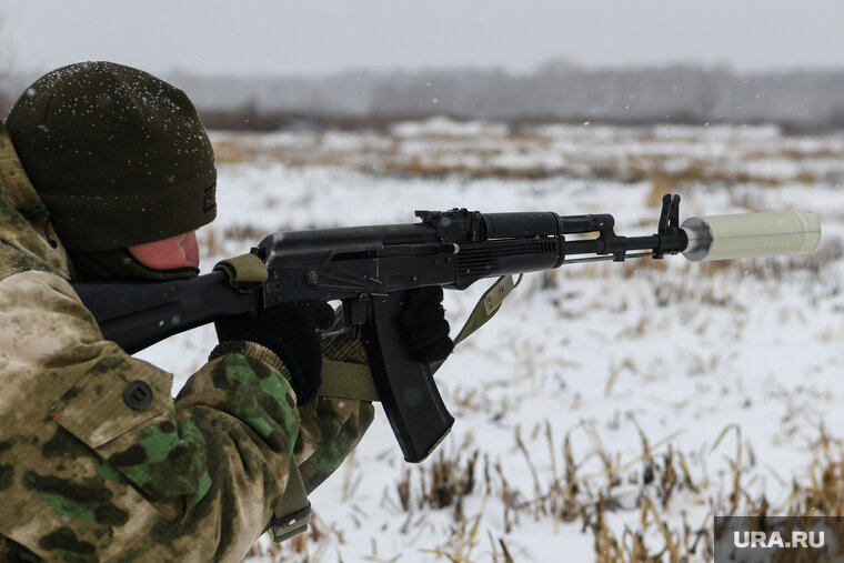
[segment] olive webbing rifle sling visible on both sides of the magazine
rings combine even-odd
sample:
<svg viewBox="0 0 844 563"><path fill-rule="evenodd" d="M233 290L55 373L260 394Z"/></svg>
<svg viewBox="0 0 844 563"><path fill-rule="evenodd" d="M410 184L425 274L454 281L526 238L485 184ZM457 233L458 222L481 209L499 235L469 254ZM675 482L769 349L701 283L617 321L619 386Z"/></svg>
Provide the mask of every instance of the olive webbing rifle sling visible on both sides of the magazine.
<svg viewBox="0 0 844 563"><path fill-rule="evenodd" d="M521 277L513 282L512 275L504 275L492 284L486 293L475 304L465 324L454 339L454 345L468 339L501 308L501 303L519 285ZM442 365L442 361L431 364L431 373ZM356 399L362 401L378 401L378 391L372 381L369 366L360 363L338 362L322 359L322 384L318 393L320 396L333 396L340 399Z"/></svg>

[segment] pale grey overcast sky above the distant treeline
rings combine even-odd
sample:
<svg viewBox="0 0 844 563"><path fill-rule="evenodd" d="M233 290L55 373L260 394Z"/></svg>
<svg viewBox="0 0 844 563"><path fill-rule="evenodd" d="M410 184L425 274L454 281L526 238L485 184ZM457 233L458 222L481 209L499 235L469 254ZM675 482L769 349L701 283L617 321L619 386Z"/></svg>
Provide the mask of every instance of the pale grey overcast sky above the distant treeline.
<svg viewBox="0 0 844 563"><path fill-rule="evenodd" d="M0 58L24 71L530 71L553 58L844 68L841 0L0 0Z"/></svg>

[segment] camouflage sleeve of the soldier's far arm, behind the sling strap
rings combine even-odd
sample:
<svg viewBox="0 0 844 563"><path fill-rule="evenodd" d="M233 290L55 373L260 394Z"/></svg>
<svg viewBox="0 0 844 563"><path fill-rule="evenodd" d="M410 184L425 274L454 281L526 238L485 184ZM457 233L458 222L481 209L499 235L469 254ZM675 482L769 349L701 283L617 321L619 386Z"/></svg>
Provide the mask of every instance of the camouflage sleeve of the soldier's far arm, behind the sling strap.
<svg viewBox="0 0 844 563"><path fill-rule="evenodd" d="M352 333L330 339L322 353L330 360L368 363L363 342ZM320 396L299 411L302 420L294 453L310 494L358 445L372 423L374 409L368 401Z"/></svg>

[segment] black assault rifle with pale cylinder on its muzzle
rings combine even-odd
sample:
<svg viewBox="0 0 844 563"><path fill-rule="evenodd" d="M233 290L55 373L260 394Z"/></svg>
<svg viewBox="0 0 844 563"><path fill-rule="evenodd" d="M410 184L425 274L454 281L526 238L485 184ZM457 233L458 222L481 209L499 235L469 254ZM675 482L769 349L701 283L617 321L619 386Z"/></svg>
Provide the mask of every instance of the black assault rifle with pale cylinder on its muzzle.
<svg viewBox="0 0 844 563"><path fill-rule="evenodd" d="M341 331L360 328L378 396L404 458L419 462L454 419L431 366L411 359L401 341L396 316L408 290L463 290L483 278L593 260L680 252L692 261L801 254L821 240L821 224L808 211L690 218L681 225L680 197L665 195L662 203L657 232L650 237L617 235L610 214L416 211L421 221L410 224L271 234L240 267L231 261L234 265L194 280L78 281L73 286L105 339L129 353L227 315L340 300ZM566 239L587 233L594 235ZM243 273L250 270L257 275Z"/></svg>

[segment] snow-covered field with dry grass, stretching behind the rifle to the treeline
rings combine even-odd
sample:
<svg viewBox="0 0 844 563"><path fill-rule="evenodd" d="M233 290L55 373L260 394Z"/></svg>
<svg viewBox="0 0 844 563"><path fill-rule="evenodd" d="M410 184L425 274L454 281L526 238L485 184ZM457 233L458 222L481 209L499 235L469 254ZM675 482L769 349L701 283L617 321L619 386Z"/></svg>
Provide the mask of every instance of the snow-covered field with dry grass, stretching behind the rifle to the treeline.
<svg viewBox="0 0 844 563"><path fill-rule="evenodd" d="M440 450L405 464L379 410L312 495L315 533L255 561L629 561L666 542L702 561L713 513L753 513L763 495L787 512L817 471L822 425L844 438L844 135L433 119L213 140L205 270L264 233L418 209L606 212L620 234L652 234L667 191L681 220L811 209L824 229L807 258L525 277L436 375L456 419ZM485 288L446 292L454 333ZM213 343L203 328L140 355L181 384Z"/></svg>

